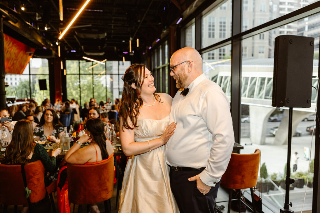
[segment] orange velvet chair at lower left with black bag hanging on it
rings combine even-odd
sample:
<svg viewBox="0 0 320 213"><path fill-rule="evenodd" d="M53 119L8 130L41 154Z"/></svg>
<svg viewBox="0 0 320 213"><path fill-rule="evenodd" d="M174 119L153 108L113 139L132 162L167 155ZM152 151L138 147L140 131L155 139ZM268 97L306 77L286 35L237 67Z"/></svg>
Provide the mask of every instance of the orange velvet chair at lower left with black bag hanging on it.
<svg viewBox="0 0 320 213"><path fill-rule="evenodd" d="M31 190L30 201L38 202L44 199L46 189L44 186L44 166L40 160L25 165L26 179ZM0 203L4 204L4 212L8 205L28 205L25 196L23 178L20 165L0 164Z"/></svg>

